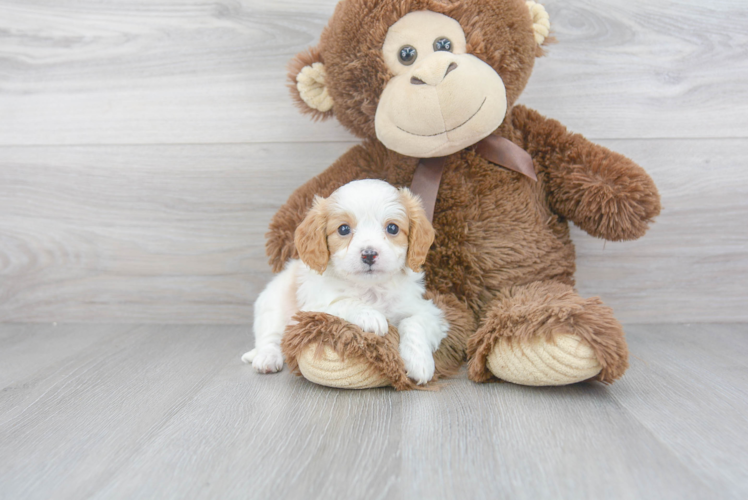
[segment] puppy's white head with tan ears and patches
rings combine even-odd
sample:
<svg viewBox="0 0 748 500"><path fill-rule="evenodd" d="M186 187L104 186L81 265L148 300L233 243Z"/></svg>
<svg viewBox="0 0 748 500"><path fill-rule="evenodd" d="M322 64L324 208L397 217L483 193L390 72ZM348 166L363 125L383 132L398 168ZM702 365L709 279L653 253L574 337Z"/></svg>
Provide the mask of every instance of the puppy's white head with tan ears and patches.
<svg viewBox="0 0 748 500"><path fill-rule="evenodd" d="M410 190L368 179L315 197L294 241L301 260L319 273L329 267L342 278L371 283L406 267L420 271L434 229Z"/></svg>

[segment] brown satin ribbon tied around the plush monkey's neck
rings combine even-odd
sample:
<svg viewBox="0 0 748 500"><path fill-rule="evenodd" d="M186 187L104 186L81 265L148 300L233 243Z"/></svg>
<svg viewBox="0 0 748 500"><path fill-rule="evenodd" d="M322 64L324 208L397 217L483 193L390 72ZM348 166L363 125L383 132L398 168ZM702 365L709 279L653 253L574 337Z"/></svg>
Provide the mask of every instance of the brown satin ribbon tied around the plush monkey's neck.
<svg viewBox="0 0 748 500"><path fill-rule="evenodd" d="M475 145L475 151L491 163L519 172L534 181L538 180L530 154L509 139L489 135ZM434 220L436 195L446 163L446 156L422 158L413 174L410 190L421 197L429 221Z"/></svg>

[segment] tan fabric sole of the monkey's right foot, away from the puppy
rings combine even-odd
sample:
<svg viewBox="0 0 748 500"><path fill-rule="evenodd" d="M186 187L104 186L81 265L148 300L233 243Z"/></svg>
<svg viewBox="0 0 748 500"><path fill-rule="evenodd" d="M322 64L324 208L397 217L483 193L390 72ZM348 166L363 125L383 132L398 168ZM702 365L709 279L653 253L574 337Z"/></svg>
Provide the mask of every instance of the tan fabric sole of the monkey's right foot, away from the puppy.
<svg viewBox="0 0 748 500"><path fill-rule="evenodd" d="M486 367L501 380L532 386L574 384L602 370L590 344L573 334L502 337L486 357Z"/></svg>

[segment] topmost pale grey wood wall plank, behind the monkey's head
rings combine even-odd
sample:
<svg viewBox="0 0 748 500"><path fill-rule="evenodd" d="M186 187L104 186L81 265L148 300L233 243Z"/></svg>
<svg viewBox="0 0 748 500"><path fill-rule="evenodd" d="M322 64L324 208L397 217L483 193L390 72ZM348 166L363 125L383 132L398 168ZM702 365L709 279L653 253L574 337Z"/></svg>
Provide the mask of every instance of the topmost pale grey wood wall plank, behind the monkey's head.
<svg viewBox="0 0 748 500"><path fill-rule="evenodd" d="M2 0L0 144L351 140L285 88L336 2ZM522 102L594 139L748 136L741 0L543 3Z"/></svg>

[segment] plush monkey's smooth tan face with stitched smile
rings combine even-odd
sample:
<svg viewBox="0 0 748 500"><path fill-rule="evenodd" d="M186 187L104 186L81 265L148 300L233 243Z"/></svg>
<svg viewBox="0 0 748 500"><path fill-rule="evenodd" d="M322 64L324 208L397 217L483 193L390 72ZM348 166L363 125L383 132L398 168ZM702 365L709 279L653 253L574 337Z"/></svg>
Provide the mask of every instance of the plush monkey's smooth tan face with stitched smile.
<svg viewBox="0 0 748 500"><path fill-rule="evenodd" d="M419 158L446 156L501 125L504 82L466 46L460 24L436 12L411 12L390 27L382 53L394 76L375 115L377 138L387 148Z"/></svg>

